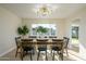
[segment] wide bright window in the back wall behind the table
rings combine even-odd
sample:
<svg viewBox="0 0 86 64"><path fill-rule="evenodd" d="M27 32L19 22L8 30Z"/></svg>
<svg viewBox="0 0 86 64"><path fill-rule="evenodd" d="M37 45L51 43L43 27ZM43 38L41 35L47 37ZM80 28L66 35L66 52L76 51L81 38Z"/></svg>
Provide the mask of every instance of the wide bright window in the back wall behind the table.
<svg viewBox="0 0 86 64"><path fill-rule="evenodd" d="M33 24L32 25L32 35L34 35L34 36L40 35L37 33L38 27L42 27L42 28L47 29L47 33L45 33L46 36L56 36L57 35L56 24Z"/></svg>

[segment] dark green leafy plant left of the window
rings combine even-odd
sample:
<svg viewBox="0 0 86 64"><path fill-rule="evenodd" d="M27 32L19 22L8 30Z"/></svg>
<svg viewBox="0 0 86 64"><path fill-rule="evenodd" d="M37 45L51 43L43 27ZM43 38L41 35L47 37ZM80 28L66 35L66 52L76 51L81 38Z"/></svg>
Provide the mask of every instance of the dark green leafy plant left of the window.
<svg viewBox="0 0 86 64"><path fill-rule="evenodd" d="M29 33L29 29L26 25L21 26L17 28L17 34L21 35L23 38Z"/></svg>

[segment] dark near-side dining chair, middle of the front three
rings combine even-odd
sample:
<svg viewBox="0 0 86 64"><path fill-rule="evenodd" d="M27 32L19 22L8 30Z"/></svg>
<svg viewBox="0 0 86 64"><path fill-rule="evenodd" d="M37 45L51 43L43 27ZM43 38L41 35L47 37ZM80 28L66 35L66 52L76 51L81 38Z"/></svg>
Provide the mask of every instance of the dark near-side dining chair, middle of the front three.
<svg viewBox="0 0 86 64"><path fill-rule="evenodd" d="M47 44L46 44L47 41L48 41L48 39L37 39L37 50L38 50L37 61L39 60L40 52L42 52L42 51L46 52L46 61L48 61Z"/></svg>

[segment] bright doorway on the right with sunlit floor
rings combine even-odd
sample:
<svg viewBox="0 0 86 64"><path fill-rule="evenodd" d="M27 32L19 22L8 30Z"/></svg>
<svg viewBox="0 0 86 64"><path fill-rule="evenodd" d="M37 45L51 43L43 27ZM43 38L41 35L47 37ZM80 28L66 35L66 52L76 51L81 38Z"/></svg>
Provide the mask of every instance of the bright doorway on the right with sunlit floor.
<svg viewBox="0 0 86 64"><path fill-rule="evenodd" d="M79 26L78 25L72 25L72 49L75 52L79 52L79 37L78 37Z"/></svg>

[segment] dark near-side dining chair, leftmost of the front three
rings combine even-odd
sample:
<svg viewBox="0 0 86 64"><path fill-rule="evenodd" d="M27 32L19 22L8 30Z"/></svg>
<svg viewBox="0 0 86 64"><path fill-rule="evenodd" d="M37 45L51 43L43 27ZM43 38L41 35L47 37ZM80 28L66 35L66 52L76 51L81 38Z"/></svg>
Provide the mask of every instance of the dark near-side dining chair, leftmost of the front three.
<svg viewBox="0 0 86 64"><path fill-rule="evenodd" d="M30 54L30 61L33 61L33 51L34 51L34 46L33 46L33 39L22 39L22 50L21 50L21 59L28 54Z"/></svg>

